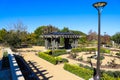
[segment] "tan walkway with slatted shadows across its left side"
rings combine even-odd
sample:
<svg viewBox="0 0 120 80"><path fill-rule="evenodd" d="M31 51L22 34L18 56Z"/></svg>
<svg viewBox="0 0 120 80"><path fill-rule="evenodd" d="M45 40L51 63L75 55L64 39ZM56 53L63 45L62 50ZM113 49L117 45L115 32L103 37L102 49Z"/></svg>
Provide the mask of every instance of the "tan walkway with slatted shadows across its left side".
<svg viewBox="0 0 120 80"><path fill-rule="evenodd" d="M32 53L23 56L40 80L83 80L65 71L63 69L64 64L53 65Z"/></svg>

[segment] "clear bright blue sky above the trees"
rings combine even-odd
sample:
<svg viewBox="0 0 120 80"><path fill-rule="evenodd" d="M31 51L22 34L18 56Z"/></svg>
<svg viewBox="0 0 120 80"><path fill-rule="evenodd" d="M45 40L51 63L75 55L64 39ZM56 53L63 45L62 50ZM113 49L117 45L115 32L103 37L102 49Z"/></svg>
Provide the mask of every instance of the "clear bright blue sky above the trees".
<svg viewBox="0 0 120 80"><path fill-rule="evenodd" d="M92 4L103 0L0 0L0 29L22 21L33 32L42 25L88 33L98 28L97 10ZM120 32L120 0L108 4L101 15L101 34Z"/></svg>

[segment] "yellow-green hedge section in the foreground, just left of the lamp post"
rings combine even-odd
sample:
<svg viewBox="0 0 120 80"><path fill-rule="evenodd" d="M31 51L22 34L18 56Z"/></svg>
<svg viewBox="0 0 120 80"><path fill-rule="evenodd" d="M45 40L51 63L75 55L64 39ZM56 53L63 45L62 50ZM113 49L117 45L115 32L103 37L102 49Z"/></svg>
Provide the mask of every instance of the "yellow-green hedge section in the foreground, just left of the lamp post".
<svg viewBox="0 0 120 80"><path fill-rule="evenodd" d="M83 67L80 67L78 65L71 65L71 64L64 64L64 69L79 76L84 78L85 80L88 80L89 78L92 77L93 71L89 69L85 69Z"/></svg>

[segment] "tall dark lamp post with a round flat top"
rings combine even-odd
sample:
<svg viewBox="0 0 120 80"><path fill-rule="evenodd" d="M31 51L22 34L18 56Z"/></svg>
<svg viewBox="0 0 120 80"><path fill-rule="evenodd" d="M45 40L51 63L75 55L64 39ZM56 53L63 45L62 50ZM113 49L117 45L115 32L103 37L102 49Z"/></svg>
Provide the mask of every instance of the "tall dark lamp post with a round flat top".
<svg viewBox="0 0 120 80"><path fill-rule="evenodd" d="M100 16L103 8L107 5L106 2L96 2L93 4L98 11L98 54L97 54L97 67L96 74L94 76L94 80L100 80Z"/></svg>

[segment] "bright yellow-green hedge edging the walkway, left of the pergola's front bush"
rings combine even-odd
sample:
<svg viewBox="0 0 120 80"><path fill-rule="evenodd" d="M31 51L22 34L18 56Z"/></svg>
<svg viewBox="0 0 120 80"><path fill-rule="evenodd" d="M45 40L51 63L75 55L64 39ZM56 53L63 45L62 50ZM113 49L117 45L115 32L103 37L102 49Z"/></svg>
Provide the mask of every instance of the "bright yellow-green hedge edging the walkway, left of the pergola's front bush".
<svg viewBox="0 0 120 80"><path fill-rule="evenodd" d="M45 54L44 52L40 52L38 55L40 58L43 58L52 64L55 64L55 65L57 64L57 59L53 56Z"/></svg>

